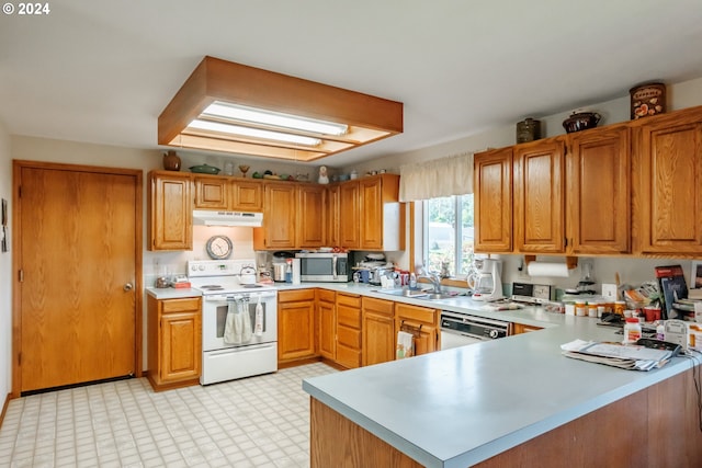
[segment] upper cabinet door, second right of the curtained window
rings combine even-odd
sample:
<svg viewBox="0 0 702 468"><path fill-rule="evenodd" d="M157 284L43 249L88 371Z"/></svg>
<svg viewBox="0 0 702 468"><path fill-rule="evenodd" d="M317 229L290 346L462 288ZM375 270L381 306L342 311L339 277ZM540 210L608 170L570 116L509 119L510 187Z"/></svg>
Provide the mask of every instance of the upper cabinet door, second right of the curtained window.
<svg viewBox="0 0 702 468"><path fill-rule="evenodd" d="M514 248L524 253L565 251L564 141L514 147Z"/></svg>

